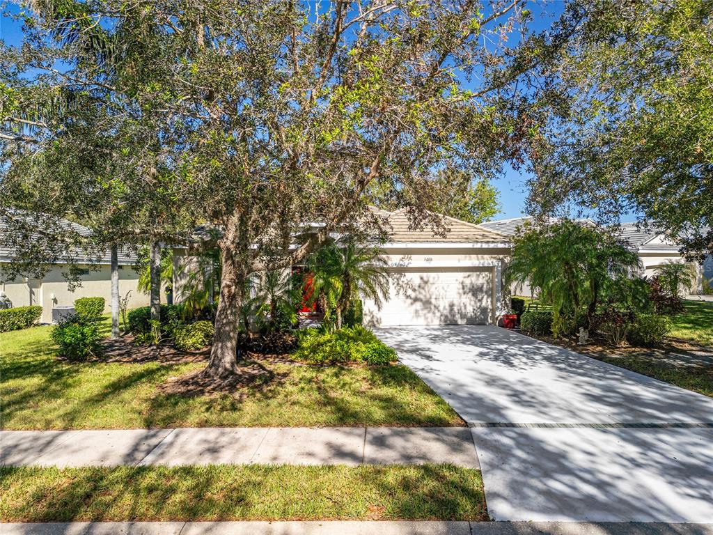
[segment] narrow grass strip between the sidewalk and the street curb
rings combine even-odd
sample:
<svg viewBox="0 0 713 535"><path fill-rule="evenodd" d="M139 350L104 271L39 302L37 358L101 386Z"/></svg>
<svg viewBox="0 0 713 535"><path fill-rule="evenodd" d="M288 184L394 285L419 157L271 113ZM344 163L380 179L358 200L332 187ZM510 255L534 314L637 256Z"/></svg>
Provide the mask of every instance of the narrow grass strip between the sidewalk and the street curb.
<svg viewBox="0 0 713 535"><path fill-rule="evenodd" d="M0 467L5 522L487 520L481 473L386 467Z"/></svg>

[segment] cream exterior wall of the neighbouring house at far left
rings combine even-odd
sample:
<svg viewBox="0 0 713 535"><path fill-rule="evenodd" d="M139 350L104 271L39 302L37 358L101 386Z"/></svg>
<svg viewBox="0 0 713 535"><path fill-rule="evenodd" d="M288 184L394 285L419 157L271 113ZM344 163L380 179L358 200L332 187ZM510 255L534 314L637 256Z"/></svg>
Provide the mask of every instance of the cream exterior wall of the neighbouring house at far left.
<svg viewBox="0 0 713 535"><path fill-rule="evenodd" d="M14 307L41 305L40 321L43 323L52 321L53 307L72 305L79 297L103 297L104 312L111 312L111 267L100 265L96 271L91 270L89 266L77 267L88 268L89 273L81 275L81 286L76 287L73 292L68 289L67 282L62 276L63 269L66 269L63 266L53 267L42 280L19 278L12 282L0 282L0 290L7 294ZM129 308L148 305L148 295L137 289L137 283L138 274L133 268L129 265L120 266L119 296L124 297L126 292L131 290ZM161 299L165 302L163 289Z"/></svg>

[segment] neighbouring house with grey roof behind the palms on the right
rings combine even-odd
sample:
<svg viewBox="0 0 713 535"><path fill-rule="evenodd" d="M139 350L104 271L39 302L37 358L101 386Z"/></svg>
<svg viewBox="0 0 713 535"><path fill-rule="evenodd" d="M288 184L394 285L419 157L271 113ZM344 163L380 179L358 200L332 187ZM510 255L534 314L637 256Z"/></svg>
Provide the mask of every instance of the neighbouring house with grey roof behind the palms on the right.
<svg viewBox="0 0 713 535"><path fill-rule="evenodd" d="M503 219L482 223L481 226L512 236L517 233L518 228L523 228L529 220L530 218ZM555 221L555 218L550 220ZM656 230L639 228L636 223L622 223L620 225L620 236L632 250L636 251L643 266L642 275L646 277L655 275L657 267L666 263L686 261L679 253L680 245L667 240L662 233ZM695 265L695 267L699 275L710 278L713 277L713 272L708 273L707 271L711 270L712 264L711 258L707 258L703 266ZM697 284L698 291L701 287L701 276L699 276ZM530 288L527 285L513 285L511 290L513 295L530 295Z"/></svg>

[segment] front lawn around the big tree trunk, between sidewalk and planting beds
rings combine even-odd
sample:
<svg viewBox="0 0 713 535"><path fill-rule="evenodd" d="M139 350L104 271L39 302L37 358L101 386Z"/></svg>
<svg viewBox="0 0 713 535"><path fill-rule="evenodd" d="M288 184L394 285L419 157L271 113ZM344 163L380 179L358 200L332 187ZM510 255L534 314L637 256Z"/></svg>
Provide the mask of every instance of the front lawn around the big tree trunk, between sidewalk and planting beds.
<svg viewBox="0 0 713 535"><path fill-rule="evenodd" d="M200 362L63 362L53 355L50 329L0 333L2 429L463 424L404 366L265 364L272 377L240 396L188 397L157 387L200 370Z"/></svg>

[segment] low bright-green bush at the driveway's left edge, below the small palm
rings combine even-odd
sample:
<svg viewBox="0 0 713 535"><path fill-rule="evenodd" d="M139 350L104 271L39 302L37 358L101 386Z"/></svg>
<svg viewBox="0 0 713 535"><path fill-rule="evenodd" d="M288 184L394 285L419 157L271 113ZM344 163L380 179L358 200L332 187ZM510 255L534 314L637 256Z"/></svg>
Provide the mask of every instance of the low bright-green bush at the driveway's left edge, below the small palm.
<svg viewBox="0 0 713 535"><path fill-rule="evenodd" d="M361 362L386 366L396 361L396 352L381 342L371 330L356 325L335 332L307 329L299 332L295 360L312 364L347 364Z"/></svg>

